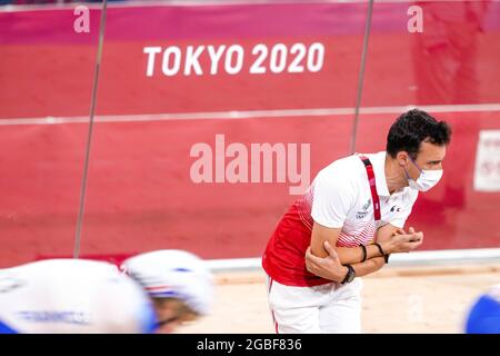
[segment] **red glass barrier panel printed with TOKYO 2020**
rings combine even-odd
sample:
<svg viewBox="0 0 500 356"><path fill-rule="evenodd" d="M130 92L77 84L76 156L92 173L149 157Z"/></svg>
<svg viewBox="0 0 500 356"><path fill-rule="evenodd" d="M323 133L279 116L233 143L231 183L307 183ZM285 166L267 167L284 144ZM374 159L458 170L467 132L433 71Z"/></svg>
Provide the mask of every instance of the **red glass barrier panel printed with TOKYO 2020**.
<svg viewBox="0 0 500 356"><path fill-rule="evenodd" d="M108 10L82 256L260 256L349 152L367 3Z"/></svg>

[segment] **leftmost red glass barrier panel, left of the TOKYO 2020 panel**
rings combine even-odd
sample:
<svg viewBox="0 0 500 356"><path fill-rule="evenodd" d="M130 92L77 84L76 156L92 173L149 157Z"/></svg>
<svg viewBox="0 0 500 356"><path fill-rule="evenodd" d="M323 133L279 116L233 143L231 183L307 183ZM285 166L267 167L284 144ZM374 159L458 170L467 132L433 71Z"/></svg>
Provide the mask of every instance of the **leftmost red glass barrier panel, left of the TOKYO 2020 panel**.
<svg viewBox="0 0 500 356"><path fill-rule="evenodd" d="M0 7L0 268L72 256L99 31L81 7Z"/></svg>

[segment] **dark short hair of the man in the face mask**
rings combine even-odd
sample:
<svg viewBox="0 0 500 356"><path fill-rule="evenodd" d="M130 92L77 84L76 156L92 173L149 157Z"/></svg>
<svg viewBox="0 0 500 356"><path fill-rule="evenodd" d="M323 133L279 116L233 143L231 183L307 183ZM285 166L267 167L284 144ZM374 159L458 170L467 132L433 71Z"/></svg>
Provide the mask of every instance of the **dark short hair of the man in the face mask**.
<svg viewBox="0 0 500 356"><path fill-rule="evenodd" d="M444 146L450 142L451 128L444 121L437 121L423 110L413 109L402 113L387 136L387 152L394 158L400 151L407 151L416 159L420 145L426 141Z"/></svg>

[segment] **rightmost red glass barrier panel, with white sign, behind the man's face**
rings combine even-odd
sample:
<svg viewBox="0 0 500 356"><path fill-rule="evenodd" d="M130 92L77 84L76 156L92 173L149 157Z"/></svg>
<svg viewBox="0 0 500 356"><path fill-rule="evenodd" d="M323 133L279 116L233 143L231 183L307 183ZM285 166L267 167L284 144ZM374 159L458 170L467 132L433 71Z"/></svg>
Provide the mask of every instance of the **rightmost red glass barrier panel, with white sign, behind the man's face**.
<svg viewBox="0 0 500 356"><path fill-rule="evenodd" d="M453 135L444 175L420 194L409 225L422 249L499 247L500 2L377 2L358 150L386 148L393 120L420 107Z"/></svg>

